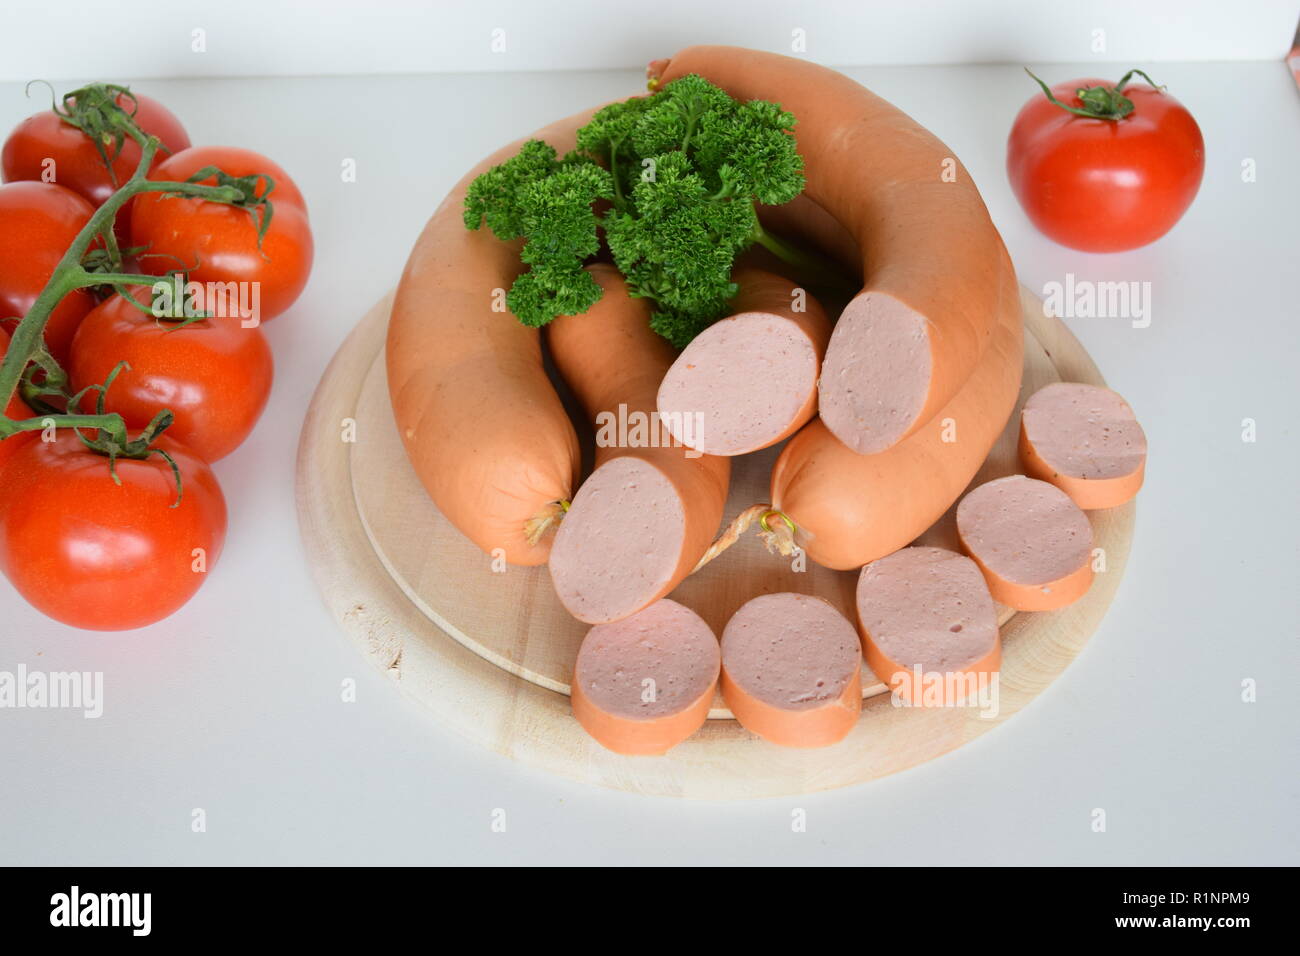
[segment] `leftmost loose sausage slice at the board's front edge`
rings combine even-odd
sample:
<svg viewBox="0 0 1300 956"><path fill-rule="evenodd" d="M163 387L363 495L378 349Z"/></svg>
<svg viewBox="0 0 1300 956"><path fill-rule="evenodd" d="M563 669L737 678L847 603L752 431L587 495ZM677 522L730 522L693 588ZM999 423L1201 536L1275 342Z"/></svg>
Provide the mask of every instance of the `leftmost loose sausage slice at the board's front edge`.
<svg viewBox="0 0 1300 956"><path fill-rule="evenodd" d="M708 717L718 639L676 601L588 631L573 670L573 715L615 753L660 754Z"/></svg>

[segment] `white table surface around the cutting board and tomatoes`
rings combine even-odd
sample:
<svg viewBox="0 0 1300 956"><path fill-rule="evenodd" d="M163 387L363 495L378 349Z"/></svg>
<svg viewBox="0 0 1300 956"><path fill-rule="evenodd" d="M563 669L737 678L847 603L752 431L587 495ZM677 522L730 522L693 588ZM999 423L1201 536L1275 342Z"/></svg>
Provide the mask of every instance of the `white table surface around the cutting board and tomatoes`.
<svg viewBox="0 0 1300 956"><path fill-rule="evenodd" d="M0 710L0 862L1300 862L1291 77L1280 62L1160 65L1156 79L1204 130L1205 182L1166 238L1101 256L1039 235L1010 193L1005 138L1035 91L1018 66L846 72L962 157L1030 287L1067 272L1152 284L1147 329L1070 321L1138 411L1150 462L1115 602L1045 693L906 773L734 804L575 784L438 726L370 670L316 594L294 509L303 414L462 172L546 121L637 92L640 70L150 81L138 88L196 143L247 146L292 173L311 204L316 268L268 326L270 410L217 466L230 533L187 607L98 635L47 620L0 583L0 670L103 671L107 698L100 719ZM0 86L0 129L42 107ZM341 181L346 157L355 183ZM1245 418L1253 444L1240 437ZM1257 702L1242 701L1245 679ZM207 832L191 831L195 808ZM498 808L504 832L491 826ZM806 810L806 832L792 832L793 808ZM1092 830L1095 808L1105 832Z"/></svg>

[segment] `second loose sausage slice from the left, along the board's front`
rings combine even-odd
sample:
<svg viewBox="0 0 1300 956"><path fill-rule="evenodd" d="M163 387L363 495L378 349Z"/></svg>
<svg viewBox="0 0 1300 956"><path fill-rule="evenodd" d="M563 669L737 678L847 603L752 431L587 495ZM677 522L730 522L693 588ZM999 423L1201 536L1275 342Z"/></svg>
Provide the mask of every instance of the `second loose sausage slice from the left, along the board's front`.
<svg viewBox="0 0 1300 956"><path fill-rule="evenodd" d="M783 747L842 740L862 711L853 624L819 597L763 594L723 632L722 689L745 730Z"/></svg>

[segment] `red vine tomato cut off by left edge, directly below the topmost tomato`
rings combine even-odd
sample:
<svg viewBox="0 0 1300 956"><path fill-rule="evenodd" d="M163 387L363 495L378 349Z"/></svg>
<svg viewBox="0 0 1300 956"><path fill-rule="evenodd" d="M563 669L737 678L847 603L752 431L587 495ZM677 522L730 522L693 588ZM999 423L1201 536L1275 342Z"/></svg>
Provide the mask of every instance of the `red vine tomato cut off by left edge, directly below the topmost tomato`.
<svg viewBox="0 0 1300 956"><path fill-rule="evenodd" d="M58 260L94 215L95 207L51 182L0 186L0 320L27 315ZM46 345L60 363L66 362L77 326L94 304L94 297L78 289L51 313ZM17 321L4 325L12 332Z"/></svg>

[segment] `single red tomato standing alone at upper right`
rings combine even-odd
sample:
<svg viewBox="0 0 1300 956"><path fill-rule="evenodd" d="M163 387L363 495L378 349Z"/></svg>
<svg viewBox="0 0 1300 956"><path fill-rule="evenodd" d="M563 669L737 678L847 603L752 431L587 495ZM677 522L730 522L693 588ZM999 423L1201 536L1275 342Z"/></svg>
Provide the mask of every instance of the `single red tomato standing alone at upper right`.
<svg viewBox="0 0 1300 956"><path fill-rule="evenodd" d="M1167 233L1205 172L1192 114L1147 83L1074 79L1052 95L1115 118L1079 116L1043 94L1024 104L1006 143L1006 174L1034 225L1086 252L1138 248Z"/></svg>

